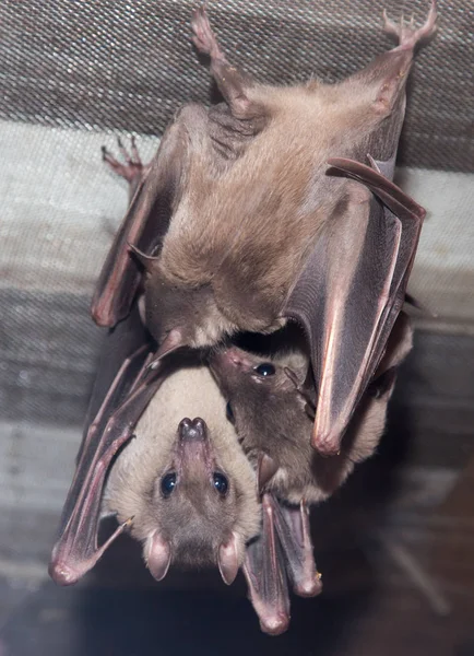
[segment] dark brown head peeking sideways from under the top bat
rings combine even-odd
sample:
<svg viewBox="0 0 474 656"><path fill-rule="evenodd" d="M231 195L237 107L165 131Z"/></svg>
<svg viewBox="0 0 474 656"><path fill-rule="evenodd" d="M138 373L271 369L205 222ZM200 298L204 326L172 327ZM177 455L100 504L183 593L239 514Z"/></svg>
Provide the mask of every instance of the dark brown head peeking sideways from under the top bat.
<svg viewBox="0 0 474 656"><path fill-rule="evenodd" d="M262 356L230 347L213 353L210 367L244 450L256 462L262 454L273 461L269 489L282 496L288 490L297 494L311 481L315 460L315 390L307 358L296 351Z"/></svg>

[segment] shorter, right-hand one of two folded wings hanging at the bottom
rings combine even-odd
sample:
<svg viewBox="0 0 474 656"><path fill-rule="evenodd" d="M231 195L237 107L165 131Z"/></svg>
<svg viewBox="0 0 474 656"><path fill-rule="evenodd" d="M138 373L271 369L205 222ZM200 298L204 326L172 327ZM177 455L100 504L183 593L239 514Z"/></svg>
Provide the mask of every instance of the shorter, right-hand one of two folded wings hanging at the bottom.
<svg viewBox="0 0 474 656"><path fill-rule="evenodd" d="M307 504L301 501L299 507L291 507L273 501L273 511L294 591L300 597L319 595L321 574L316 569Z"/></svg>

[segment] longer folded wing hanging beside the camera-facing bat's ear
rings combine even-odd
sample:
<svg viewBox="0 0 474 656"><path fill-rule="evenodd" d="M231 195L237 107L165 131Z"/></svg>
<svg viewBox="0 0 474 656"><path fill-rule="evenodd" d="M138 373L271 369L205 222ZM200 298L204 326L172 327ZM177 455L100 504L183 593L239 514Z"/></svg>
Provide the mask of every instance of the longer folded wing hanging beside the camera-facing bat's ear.
<svg viewBox="0 0 474 656"><path fill-rule="evenodd" d="M273 504L268 494L263 495L262 511L262 532L247 547L244 574L261 630L279 635L289 624L289 597Z"/></svg>

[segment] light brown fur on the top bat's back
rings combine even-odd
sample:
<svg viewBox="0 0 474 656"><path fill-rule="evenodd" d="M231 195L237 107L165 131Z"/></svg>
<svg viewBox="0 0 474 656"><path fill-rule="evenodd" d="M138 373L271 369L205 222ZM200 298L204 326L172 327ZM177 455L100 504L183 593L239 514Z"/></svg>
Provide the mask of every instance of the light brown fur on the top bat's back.
<svg viewBox="0 0 474 656"><path fill-rule="evenodd" d="M248 85L251 118L235 118L233 130L220 125L217 131L227 134L232 151L236 125L258 118L260 127L244 145L236 139L238 156L225 164L211 113L201 131L194 125L187 130L182 195L147 280L149 325L158 341L178 325L193 347L237 330L282 326L304 261L322 225L336 221L352 186L327 176L327 161L365 160L368 151L376 159L393 154L412 58L412 49L386 52L339 84ZM387 84L390 102L381 104ZM182 304L167 313L171 294Z"/></svg>

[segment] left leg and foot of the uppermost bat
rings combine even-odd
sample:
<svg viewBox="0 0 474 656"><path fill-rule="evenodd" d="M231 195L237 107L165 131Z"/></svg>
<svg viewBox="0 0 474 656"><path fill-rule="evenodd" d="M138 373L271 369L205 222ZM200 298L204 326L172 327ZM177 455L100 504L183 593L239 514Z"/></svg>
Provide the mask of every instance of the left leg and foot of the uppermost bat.
<svg viewBox="0 0 474 656"><path fill-rule="evenodd" d="M232 113L239 118L252 114L252 103L246 94L251 81L227 61L209 23L204 5L194 10L191 26L194 33L192 40L200 52L211 57L211 73Z"/></svg>

